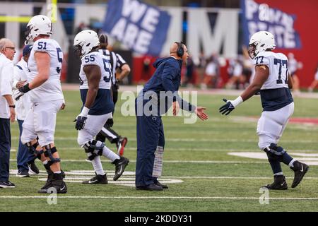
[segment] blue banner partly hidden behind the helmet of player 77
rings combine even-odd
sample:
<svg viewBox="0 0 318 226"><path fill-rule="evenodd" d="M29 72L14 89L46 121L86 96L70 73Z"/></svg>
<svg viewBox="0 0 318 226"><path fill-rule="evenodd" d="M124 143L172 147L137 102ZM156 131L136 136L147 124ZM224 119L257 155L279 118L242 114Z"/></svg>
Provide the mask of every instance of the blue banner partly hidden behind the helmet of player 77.
<svg viewBox="0 0 318 226"><path fill-rule="evenodd" d="M294 29L295 16L253 0L241 0L241 9L246 45L255 32L267 30L275 36L276 48L301 48L300 36Z"/></svg>

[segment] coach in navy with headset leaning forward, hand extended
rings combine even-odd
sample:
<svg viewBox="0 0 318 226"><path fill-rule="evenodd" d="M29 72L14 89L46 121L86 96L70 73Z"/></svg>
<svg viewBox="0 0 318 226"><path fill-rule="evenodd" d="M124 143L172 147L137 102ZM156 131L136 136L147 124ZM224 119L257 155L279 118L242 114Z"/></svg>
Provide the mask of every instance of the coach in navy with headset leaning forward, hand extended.
<svg viewBox="0 0 318 226"><path fill-rule="evenodd" d="M206 120L205 107L196 107L182 100L177 91L181 80L182 62L189 57L187 47L175 42L170 47L170 57L158 59L155 73L139 93L135 102L137 118L136 189L162 191L165 184L158 182L163 169L165 136L161 115L172 106L173 115L179 106Z"/></svg>

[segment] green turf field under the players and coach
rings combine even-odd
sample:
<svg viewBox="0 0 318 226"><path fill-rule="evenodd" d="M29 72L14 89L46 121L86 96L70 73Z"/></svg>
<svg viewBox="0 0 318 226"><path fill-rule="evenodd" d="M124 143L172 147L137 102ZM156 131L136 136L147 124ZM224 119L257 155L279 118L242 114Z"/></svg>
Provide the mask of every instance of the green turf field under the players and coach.
<svg viewBox="0 0 318 226"><path fill-rule="evenodd" d="M256 134L256 119L261 114L259 97L252 97L224 117L218 113L223 96L199 95L199 105L208 108L208 121L184 124L182 117L164 117L166 146L161 181L169 189L136 191L135 117L122 117L121 102L117 104L113 128L128 137L124 155L131 160L118 183L112 181L114 166L102 158L110 184L80 184L83 179L93 177L93 167L85 161L86 154L76 142L73 119L81 107L79 93L64 91L64 95L66 109L58 114L55 143L66 171L68 193L58 195L57 205L49 205L47 196L37 193L45 183L39 180L45 179L45 169L37 161L43 174L30 178L12 174L10 180L16 188L0 189L0 211L318 211L317 166L311 165L302 183L291 189L293 172L283 165L289 189L270 191L269 204L260 204L260 186L272 182L269 163L264 159L228 155L261 153ZM293 117L317 118L317 112L317 99L295 98ZM288 124L280 145L314 162L318 156L318 125ZM114 145L109 146L115 150ZM16 169L17 123L12 126L12 148L10 169Z"/></svg>

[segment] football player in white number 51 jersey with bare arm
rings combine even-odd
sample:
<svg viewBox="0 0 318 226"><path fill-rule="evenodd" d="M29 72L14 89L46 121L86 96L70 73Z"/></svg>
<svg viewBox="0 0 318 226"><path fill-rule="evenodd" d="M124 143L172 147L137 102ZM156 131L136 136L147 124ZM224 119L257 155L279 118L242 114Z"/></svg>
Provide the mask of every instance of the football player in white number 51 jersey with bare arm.
<svg viewBox="0 0 318 226"><path fill-rule="evenodd" d="M47 16L37 15L27 25L25 44L33 44L28 59L28 83L19 88L21 93L29 93L32 108L23 122L21 142L30 152L37 153L37 146L42 147L47 183L40 193L64 194L67 187L63 181L60 159L54 145L54 131L59 109L64 109L64 95L61 90L61 64L63 52L57 41L52 40L52 22ZM38 140L37 140L38 138ZM39 153L38 153L39 154Z"/></svg>

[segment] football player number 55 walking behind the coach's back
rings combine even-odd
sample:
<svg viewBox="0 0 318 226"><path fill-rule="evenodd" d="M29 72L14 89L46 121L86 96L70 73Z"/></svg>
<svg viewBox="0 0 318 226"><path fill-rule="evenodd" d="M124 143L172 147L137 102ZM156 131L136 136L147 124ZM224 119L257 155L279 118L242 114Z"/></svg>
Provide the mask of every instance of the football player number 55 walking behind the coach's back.
<svg viewBox="0 0 318 226"><path fill-rule="evenodd" d="M92 162L95 177L83 184L107 184L107 176L102 169L100 156L103 155L115 165L114 180L117 180L128 165L126 157L113 153L105 143L96 141L94 137L100 132L107 119L112 118L114 102L112 101L110 61L100 52L100 41L93 30L83 30L74 38L75 52L81 57L79 74L81 85L81 114L76 117L78 145L84 148L88 159Z"/></svg>

